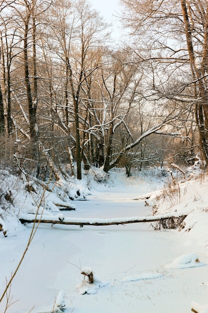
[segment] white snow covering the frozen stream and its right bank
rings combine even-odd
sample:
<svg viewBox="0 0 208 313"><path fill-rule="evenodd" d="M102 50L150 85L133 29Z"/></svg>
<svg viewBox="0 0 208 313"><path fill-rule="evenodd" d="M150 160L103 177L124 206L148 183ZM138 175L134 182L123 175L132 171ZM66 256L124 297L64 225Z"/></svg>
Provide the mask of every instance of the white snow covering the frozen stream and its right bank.
<svg viewBox="0 0 208 313"><path fill-rule="evenodd" d="M91 194L87 200L73 201L76 210L61 213L76 219L150 216L155 196L160 194L155 191L162 185L163 181L159 183L151 175L126 178L124 172L115 171L106 184L88 180ZM142 194L150 197L134 199ZM207 312L207 177L182 183L180 195L180 201L174 199L174 207L161 198L157 213L192 211L181 231L156 231L150 223L84 227L39 224L12 281L10 300L17 301L6 313L55 311L62 304L65 313L188 313L192 305ZM16 198L22 209L20 197ZM46 204L54 198L55 194L51 195ZM26 206L35 206L28 196L24 201ZM32 224L23 226L11 217L6 226L7 237L0 233L0 294L32 228ZM93 284L81 274L83 269L92 269ZM5 299L0 312L4 309Z"/></svg>

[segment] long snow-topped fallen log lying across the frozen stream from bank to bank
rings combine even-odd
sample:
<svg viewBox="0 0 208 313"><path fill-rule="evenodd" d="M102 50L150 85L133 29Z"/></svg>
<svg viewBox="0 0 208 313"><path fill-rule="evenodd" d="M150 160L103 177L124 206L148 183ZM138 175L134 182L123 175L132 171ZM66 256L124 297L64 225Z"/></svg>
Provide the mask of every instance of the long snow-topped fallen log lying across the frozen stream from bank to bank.
<svg viewBox="0 0 208 313"><path fill-rule="evenodd" d="M184 219L190 210L184 210L181 212L170 212L162 215L154 216L132 216L132 217L117 217L117 218L75 218L75 217L64 217L63 214L57 215L35 215L35 214L25 214L19 213L18 218L21 223L51 223L51 224L65 224L65 225L95 225L95 226L105 226L105 225L119 225L119 224L129 224L129 223L143 223L143 222L155 222L163 219L170 218L180 218Z"/></svg>

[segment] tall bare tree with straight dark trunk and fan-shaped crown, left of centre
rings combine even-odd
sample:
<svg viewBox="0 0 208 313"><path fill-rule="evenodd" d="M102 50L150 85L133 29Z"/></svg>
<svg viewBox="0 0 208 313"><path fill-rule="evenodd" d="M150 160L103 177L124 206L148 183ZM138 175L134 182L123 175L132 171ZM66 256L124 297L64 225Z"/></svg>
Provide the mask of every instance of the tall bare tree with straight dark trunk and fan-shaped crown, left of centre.
<svg viewBox="0 0 208 313"><path fill-rule="evenodd" d="M101 21L96 11L92 10L85 1L78 1L73 7L69 3L58 1L52 10L53 23L51 28L58 45L53 51L62 61L65 72L64 84L64 116L65 125L70 134L69 111L73 108L77 178L81 179L81 149L80 105L82 103L82 88L87 77L96 70L97 65L91 59L94 57L96 47L106 36L106 25ZM57 24L57 21L60 21ZM53 38L54 38L53 37ZM93 64L94 67L91 67Z"/></svg>

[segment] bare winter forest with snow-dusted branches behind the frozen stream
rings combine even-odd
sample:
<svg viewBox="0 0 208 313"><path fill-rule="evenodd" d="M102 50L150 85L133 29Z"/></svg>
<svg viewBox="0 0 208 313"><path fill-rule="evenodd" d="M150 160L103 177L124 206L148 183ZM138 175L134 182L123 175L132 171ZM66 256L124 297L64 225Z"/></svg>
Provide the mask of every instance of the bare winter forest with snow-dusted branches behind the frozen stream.
<svg viewBox="0 0 208 313"><path fill-rule="evenodd" d="M1 0L0 162L41 180L91 166L208 164L208 2Z"/></svg>

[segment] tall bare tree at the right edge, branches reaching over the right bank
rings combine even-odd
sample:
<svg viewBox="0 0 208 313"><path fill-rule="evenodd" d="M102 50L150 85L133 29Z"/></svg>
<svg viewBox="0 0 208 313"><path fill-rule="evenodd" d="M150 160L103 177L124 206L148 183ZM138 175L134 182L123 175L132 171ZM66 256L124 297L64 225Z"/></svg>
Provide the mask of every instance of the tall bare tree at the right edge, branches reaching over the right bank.
<svg viewBox="0 0 208 313"><path fill-rule="evenodd" d="M135 61L152 66L149 96L177 101L179 108L187 108L188 123L189 111L195 111L199 145L208 163L207 1L121 2L123 21L140 42L139 47L132 40Z"/></svg>

